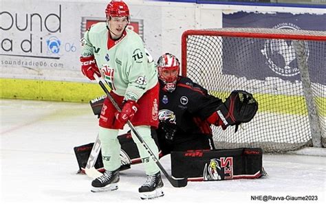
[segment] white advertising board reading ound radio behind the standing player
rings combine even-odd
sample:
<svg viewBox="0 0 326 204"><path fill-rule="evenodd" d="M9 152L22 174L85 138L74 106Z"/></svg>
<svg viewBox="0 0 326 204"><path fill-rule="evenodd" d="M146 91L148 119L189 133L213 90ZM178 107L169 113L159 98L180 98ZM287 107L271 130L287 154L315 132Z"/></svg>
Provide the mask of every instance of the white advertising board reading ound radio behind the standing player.
<svg viewBox="0 0 326 204"><path fill-rule="evenodd" d="M1 5L2 76L89 82L80 72L80 38L92 24L105 21L107 2L6 1ZM129 5L129 9L128 28L140 34L149 52L161 54L160 8L154 12L147 6Z"/></svg>

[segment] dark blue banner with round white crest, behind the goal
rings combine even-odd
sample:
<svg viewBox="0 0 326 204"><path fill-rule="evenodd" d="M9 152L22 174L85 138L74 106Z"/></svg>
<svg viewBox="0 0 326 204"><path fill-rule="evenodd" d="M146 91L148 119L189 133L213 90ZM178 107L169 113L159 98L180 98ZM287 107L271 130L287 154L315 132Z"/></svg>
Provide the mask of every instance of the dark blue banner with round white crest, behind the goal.
<svg viewBox="0 0 326 204"><path fill-rule="evenodd" d="M326 14L288 14L273 13L259 14L254 12L236 12L223 14L223 27L268 27L287 30L326 30ZM231 39L224 38L224 67L223 72L235 76L246 76L248 79L264 80L268 77L283 80L301 80L294 47L291 41L267 40L244 41L237 47L229 45ZM325 59L326 43L320 43L318 50L312 49L314 42L305 42L305 52L308 54L309 74L312 82L326 84ZM248 52L248 49L251 51ZM246 58L237 58L237 53L248 52ZM239 65L246 65L243 73L239 73ZM243 67L245 68L245 67ZM237 70L237 71L236 71ZM324 73L324 75L322 74Z"/></svg>

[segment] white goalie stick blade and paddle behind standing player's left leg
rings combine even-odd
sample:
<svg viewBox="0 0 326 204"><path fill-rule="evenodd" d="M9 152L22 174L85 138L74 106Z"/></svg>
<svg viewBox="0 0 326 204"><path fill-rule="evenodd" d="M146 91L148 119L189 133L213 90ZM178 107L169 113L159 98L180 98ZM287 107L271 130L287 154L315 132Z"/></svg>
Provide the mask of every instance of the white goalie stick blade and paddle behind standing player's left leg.
<svg viewBox="0 0 326 204"><path fill-rule="evenodd" d="M94 141L94 146L91 148L91 154L88 157L86 167L85 167L85 174L87 176L96 179L97 177L102 176L102 173L96 170L95 163L98 159L98 155L100 154L100 139L98 138L98 135L96 136L96 139Z"/></svg>

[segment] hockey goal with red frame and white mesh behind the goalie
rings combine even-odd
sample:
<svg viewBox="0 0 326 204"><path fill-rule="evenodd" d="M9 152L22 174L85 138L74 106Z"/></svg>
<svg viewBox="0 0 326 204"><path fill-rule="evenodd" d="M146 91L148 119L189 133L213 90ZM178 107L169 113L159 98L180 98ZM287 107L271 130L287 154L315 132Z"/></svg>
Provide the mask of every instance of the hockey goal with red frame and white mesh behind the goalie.
<svg viewBox="0 0 326 204"><path fill-rule="evenodd" d="M253 93L251 122L223 131L215 148L260 147L285 152L325 146L326 32L260 28L188 30L182 35L182 76L223 101Z"/></svg>

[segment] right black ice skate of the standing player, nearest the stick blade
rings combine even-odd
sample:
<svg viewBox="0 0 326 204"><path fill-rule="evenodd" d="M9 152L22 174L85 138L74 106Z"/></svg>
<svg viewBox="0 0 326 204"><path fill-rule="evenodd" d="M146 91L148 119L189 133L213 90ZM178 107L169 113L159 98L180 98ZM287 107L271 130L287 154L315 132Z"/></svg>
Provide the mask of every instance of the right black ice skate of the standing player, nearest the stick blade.
<svg viewBox="0 0 326 204"><path fill-rule="evenodd" d="M161 173L157 172L151 176L147 175L145 183L138 189L140 192L140 199L155 199L164 196L162 191L163 182Z"/></svg>

